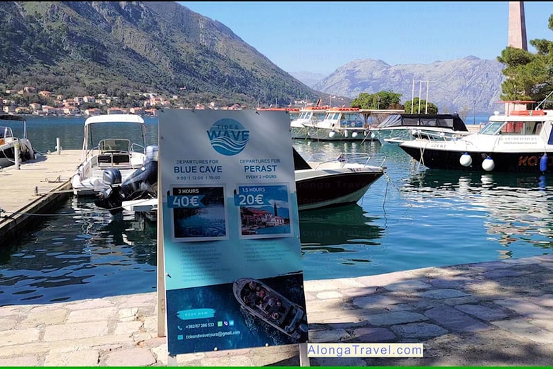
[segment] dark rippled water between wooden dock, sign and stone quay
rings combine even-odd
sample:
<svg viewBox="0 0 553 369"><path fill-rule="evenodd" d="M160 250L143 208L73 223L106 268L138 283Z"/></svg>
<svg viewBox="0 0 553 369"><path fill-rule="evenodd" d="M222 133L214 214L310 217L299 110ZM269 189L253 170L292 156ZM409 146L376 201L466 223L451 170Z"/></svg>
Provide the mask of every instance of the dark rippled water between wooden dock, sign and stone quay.
<svg viewBox="0 0 553 369"><path fill-rule="evenodd" d="M67 200L55 217L0 250L0 306L155 291L155 224Z"/></svg>

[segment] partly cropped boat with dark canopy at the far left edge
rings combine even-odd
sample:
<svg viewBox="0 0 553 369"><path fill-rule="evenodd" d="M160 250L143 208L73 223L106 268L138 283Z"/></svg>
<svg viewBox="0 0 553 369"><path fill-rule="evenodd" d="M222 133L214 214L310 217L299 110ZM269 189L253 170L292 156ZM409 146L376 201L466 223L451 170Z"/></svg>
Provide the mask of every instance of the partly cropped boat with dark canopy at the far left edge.
<svg viewBox="0 0 553 369"><path fill-rule="evenodd" d="M17 120L23 123L23 136L15 137L12 127L0 126L0 168L6 168L15 164L15 151L19 150L19 163L35 159L33 145L27 138L27 120L22 116L8 114L0 115L0 120Z"/></svg>

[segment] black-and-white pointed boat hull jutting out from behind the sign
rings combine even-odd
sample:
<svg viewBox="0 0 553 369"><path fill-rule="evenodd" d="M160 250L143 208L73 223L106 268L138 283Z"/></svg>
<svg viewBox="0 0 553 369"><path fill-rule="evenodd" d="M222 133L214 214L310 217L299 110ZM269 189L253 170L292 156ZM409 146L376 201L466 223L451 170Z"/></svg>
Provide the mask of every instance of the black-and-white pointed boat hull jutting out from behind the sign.
<svg viewBox="0 0 553 369"><path fill-rule="evenodd" d="M384 174L380 170L358 172L336 170L297 170L296 191L299 210L313 210L355 204L371 184Z"/></svg>

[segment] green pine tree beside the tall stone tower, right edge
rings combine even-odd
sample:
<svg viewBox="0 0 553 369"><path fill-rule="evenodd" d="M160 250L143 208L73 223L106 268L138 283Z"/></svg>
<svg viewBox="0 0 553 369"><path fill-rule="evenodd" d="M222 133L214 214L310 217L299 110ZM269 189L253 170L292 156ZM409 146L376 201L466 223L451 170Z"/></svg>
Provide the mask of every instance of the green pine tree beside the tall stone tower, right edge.
<svg viewBox="0 0 553 369"><path fill-rule="evenodd" d="M553 15L548 26L553 30ZM498 62L505 64L502 73L507 76L501 84L502 100L542 101L553 91L553 42L532 39L530 44L536 54L507 46L498 56Z"/></svg>

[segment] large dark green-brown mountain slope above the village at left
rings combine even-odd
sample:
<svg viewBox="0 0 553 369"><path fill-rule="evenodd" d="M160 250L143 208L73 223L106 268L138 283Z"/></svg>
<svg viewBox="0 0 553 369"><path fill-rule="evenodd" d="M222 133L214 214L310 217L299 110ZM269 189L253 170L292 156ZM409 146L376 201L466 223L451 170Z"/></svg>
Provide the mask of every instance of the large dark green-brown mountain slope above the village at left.
<svg viewBox="0 0 553 369"><path fill-rule="evenodd" d="M224 24L176 2L3 1L0 17L4 90L262 105L320 96Z"/></svg>

